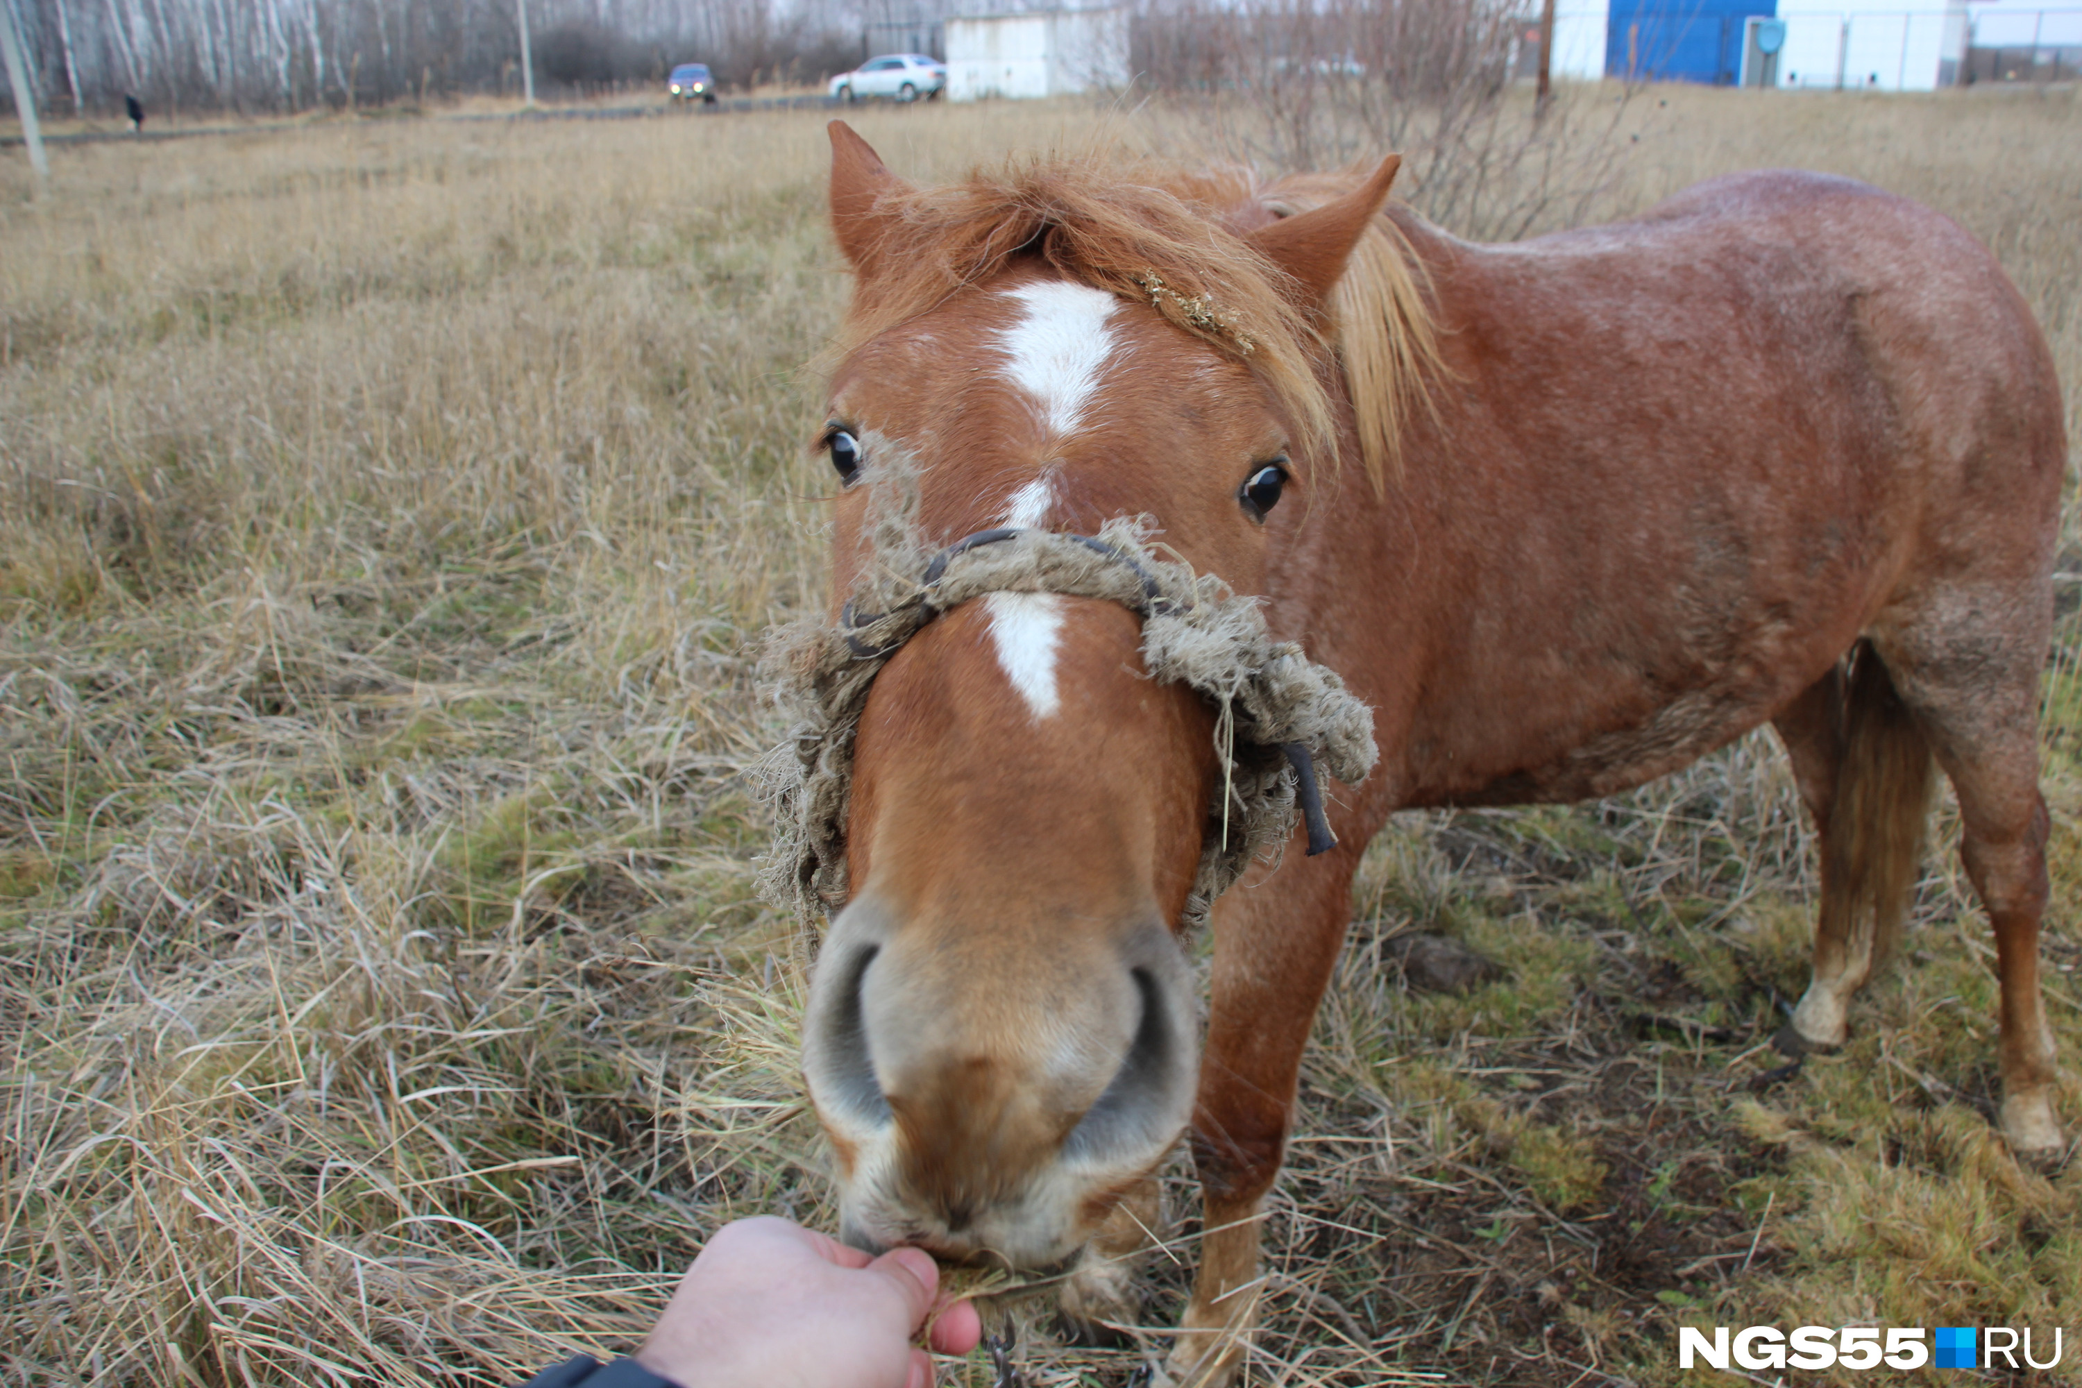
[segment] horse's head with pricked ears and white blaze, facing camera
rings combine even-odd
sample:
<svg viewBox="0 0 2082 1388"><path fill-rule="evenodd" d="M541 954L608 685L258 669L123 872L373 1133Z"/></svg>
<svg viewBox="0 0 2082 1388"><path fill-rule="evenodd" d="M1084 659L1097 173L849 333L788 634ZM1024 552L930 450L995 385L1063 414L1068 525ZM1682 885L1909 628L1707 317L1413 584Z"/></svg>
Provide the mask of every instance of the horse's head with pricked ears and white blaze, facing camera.
<svg viewBox="0 0 2082 1388"><path fill-rule="evenodd" d="M1310 212L1224 219L1074 169L914 189L831 133L856 295L816 441L839 483L827 635L872 633L891 585L916 597L918 562L983 531L1112 522L1093 564L1120 572L958 593L891 649L856 637L868 674L837 658L858 722L827 739L843 847L816 864L837 886L804 1074L852 1242L1051 1265L1193 1115L1183 934L1235 728L1210 683L1151 670L1149 614L1214 589L1156 595L1143 541L1168 574L1264 593L1268 545L1335 468L1318 323L1395 164Z"/></svg>

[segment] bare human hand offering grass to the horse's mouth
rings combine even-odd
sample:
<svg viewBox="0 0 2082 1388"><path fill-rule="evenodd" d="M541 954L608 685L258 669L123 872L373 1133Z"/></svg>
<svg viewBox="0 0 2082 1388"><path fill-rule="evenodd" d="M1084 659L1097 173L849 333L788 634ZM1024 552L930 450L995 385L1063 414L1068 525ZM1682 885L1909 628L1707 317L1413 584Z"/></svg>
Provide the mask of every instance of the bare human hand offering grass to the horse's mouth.
<svg viewBox="0 0 2082 1388"><path fill-rule="evenodd" d="M787 1219L739 1219L693 1259L637 1363L681 1388L931 1388L933 1361L910 1338L937 1290L922 1249L870 1259ZM981 1338L964 1301L931 1344L966 1355Z"/></svg>

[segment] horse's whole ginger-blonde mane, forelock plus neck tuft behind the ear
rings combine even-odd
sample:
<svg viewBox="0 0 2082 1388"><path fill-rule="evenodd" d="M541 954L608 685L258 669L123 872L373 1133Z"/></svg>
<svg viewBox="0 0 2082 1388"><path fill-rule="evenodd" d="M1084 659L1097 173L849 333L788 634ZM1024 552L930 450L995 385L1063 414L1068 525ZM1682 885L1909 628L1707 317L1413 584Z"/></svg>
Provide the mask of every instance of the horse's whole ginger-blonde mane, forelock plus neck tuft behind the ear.
<svg viewBox="0 0 2082 1388"><path fill-rule="evenodd" d="M1291 281L1230 225L1264 196L1299 212L1357 187L1299 175L1260 189L1247 173L1091 169L1033 162L945 187L902 187L877 204L891 248L860 281L835 350L983 283L1016 256L1143 300L1176 327L1251 366L1289 414L1303 456L1335 456L1337 414L1316 370L1335 350L1353 397L1360 456L1376 487L1401 472L1401 429L1437 366L1426 285L1410 246L1376 216L1332 300L1335 341L1295 306Z"/></svg>

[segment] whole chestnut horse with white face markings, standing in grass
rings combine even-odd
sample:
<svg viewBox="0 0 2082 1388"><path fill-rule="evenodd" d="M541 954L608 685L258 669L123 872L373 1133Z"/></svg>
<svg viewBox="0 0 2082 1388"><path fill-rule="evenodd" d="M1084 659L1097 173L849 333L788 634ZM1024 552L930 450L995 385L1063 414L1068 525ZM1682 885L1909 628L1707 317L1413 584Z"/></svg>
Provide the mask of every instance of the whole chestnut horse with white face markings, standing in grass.
<svg viewBox="0 0 2082 1388"><path fill-rule="evenodd" d="M1216 703L1147 678L1139 610L1085 589L972 595L874 651L833 743L843 886L804 1026L852 1242L1083 1251L1066 1309L1116 1313L1114 1259L1189 1128L1205 1236L1170 1373L1226 1380L1368 839L1405 807L1614 795L1763 722L1822 851L1788 1043L1845 1040L1934 762L1995 926L2001 1126L2061 1145L2036 683L2065 441L1980 243L1805 173L1474 246L1387 204L1393 158L920 189L831 137L856 271L816 443L841 481L833 618L877 583L891 514L922 551L1139 516L1262 595L1380 747L1326 782L1335 847L1268 853L1216 903L1195 1063L1180 936L1226 834Z"/></svg>

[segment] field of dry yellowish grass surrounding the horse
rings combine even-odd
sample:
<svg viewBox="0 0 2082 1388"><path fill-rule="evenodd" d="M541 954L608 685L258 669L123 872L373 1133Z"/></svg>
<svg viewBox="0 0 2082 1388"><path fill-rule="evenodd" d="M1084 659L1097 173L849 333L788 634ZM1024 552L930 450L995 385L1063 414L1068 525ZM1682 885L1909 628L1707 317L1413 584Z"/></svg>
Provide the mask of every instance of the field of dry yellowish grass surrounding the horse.
<svg viewBox="0 0 2082 1388"><path fill-rule="evenodd" d="M0 1382L510 1384L627 1346L725 1219L831 1228L806 945L754 897L739 778L779 732L758 635L820 599L820 123L329 121L56 150L42 198L0 152ZM1201 156L1156 110L858 123L924 179ZM2082 437L2078 133L2072 89L1649 92L1597 208L1759 164L1922 198L2015 277ZM2082 1382L2082 1161L1988 1128L1992 947L1934 837L1851 1045L1786 1074L1813 868L1766 737L1397 822L1303 1074L1258 1382L1678 1384L1686 1321L2061 1326L2028 1382ZM1410 930L1505 972L1416 991ZM1170 1190L1151 1328L1193 1263L1187 1163ZM1037 1386L1141 1363L1016 1313Z"/></svg>

